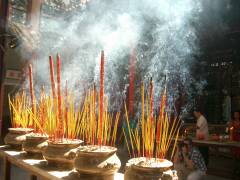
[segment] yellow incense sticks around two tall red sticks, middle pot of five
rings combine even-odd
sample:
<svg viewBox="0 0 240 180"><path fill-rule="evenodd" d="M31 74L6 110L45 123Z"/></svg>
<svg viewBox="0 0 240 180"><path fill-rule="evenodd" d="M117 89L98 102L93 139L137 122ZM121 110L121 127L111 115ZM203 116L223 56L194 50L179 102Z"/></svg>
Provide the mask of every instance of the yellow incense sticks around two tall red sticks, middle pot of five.
<svg viewBox="0 0 240 180"><path fill-rule="evenodd" d="M76 100L72 93L69 93L66 100L62 104L64 109L63 113L65 116L64 120L64 134L63 137L58 136L58 111L56 99L54 100L52 96L46 95L45 91L42 90L40 94L40 101L37 107L38 116L34 119L34 122L41 130L42 133L48 134L50 141L62 141L63 138L68 140L73 140L78 138L78 132L81 130L81 125L77 123L77 112L75 112ZM81 122L80 120L79 122ZM44 123L43 123L44 122Z"/></svg>

